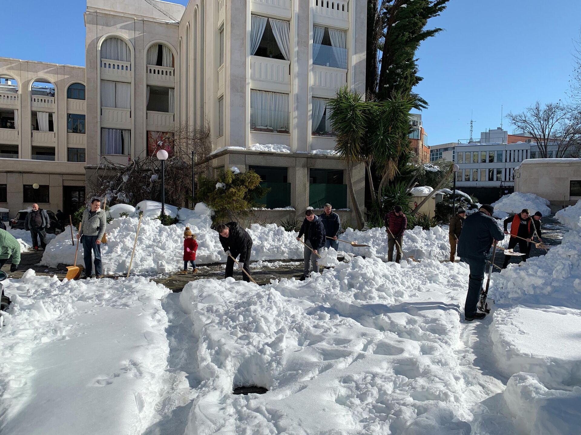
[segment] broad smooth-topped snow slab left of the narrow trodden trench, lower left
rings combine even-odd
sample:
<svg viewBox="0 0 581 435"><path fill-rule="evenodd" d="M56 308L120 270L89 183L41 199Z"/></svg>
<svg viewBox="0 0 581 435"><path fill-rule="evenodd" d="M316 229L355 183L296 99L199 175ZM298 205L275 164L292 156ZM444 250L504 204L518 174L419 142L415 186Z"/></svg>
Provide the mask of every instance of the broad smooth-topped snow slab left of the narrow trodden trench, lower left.
<svg viewBox="0 0 581 435"><path fill-rule="evenodd" d="M33 270L3 284L13 303L0 330L2 435L141 434L167 383L168 290Z"/></svg>

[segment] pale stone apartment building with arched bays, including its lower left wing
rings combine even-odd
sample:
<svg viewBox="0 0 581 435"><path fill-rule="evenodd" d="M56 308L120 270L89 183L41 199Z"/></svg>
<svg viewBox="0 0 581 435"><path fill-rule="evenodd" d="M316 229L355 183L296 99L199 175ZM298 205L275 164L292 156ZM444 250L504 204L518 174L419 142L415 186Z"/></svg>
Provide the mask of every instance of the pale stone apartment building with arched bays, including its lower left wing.
<svg viewBox="0 0 581 435"><path fill-rule="evenodd" d="M42 186L50 182L50 201L37 202L62 208L56 190L71 183L72 172L90 179L105 158L127 164L155 152L163 132L205 123L214 173L231 166L254 169L271 188L268 208L294 206L297 214L325 202L352 208L345 165L331 151L335 138L327 101L340 86L364 92L366 0L191 0L186 7L87 0L84 20L85 68L0 60L0 77L19 84L16 92L0 91L7 94L0 110L13 110L10 97L16 94L19 119L31 125L26 132L0 132L0 207L10 208L11 215L27 201L20 182L8 180L10 171L26 178L22 183L28 183L27 174L35 174ZM35 101L35 81L54 89L54 96L48 90L42 99L52 104L52 110L46 108L49 126L46 115L38 114L42 110L35 110L41 104ZM65 98L74 83L77 97L86 86L82 103ZM9 114L5 124L14 125L15 115L8 122ZM81 114L82 133L81 119L70 117ZM263 151L251 149L253 144L264 145ZM15 146L18 158L6 161L4 154L13 157ZM54 162L35 160L51 151ZM86 162L70 161L75 158ZM363 165L355 165L352 175L363 206Z"/></svg>

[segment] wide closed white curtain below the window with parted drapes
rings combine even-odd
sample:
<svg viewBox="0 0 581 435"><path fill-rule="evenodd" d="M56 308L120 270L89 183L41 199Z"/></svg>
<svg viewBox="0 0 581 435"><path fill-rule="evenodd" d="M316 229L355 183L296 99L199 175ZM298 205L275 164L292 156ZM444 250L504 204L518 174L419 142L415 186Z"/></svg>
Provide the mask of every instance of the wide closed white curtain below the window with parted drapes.
<svg viewBox="0 0 581 435"><path fill-rule="evenodd" d="M279 129L289 129L289 95L251 90L250 125L270 127L275 132Z"/></svg>

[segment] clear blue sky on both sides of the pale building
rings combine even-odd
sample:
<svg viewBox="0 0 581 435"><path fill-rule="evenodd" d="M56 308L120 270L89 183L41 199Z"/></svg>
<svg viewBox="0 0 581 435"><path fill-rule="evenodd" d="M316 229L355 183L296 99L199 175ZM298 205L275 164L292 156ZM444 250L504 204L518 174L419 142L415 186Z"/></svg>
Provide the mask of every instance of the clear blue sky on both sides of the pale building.
<svg viewBox="0 0 581 435"><path fill-rule="evenodd" d="M0 56L84 65L85 5L83 0L53 1L50 8L40 0L11 2L2 20L10 37ZM471 111L479 137L480 131L500 126L501 106L506 114L536 100L565 99L581 1L450 0L429 26L444 28L417 53L424 81L416 90L430 104L422 112L429 144L468 139ZM504 128L512 131L506 119Z"/></svg>

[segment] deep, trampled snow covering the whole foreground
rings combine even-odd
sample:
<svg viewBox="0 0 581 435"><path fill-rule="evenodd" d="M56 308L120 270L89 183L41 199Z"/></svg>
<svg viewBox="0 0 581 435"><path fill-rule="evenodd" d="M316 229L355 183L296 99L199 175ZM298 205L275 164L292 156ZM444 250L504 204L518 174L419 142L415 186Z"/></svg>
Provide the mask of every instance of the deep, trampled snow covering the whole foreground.
<svg viewBox="0 0 581 435"><path fill-rule="evenodd" d="M305 281L197 280L179 294L145 278L9 280L20 296L0 332L0 428L578 433L579 216L581 204L558 215L569 232L547 255L493 274L480 322L462 315L466 264L371 252ZM232 394L250 385L269 391Z"/></svg>

